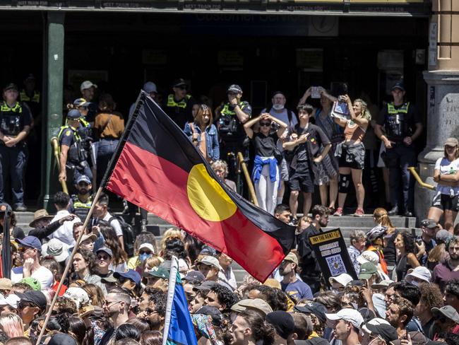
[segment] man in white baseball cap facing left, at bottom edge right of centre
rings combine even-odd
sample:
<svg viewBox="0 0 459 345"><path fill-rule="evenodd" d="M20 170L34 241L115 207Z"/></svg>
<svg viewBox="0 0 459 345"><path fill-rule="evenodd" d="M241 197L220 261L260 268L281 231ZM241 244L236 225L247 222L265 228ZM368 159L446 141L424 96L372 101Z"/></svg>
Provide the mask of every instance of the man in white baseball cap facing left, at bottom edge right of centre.
<svg viewBox="0 0 459 345"><path fill-rule="evenodd" d="M333 337L343 345L358 345L359 329L364 323L362 315L354 309L345 308L336 314L326 314L327 320L333 322Z"/></svg>

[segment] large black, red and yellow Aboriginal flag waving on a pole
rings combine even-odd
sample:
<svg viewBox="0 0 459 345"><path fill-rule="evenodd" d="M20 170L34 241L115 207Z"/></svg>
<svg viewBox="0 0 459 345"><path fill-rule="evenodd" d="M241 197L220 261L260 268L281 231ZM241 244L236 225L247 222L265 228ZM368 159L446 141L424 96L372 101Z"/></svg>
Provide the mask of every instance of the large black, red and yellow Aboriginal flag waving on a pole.
<svg viewBox="0 0 459 345"><path fill-rule="evenodd" d="M292 248L294 228L220 182L143 91L110 171L107 189L226 253L259 281Z"/></svg>

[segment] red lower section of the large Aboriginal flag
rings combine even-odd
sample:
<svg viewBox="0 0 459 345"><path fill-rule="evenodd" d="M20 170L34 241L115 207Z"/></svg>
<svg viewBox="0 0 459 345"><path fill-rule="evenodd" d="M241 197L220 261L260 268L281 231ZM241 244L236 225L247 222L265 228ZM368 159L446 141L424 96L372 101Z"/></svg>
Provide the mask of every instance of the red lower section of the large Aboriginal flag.
<svg viewBox="0 0 459 345"><path fill-rule="evenodd" d="M128 141L107 189L225 252L256 279L265 281L285 256L278 240L255 226L240 209L220 222L198 216L186 194L188 175Z"/></svg>

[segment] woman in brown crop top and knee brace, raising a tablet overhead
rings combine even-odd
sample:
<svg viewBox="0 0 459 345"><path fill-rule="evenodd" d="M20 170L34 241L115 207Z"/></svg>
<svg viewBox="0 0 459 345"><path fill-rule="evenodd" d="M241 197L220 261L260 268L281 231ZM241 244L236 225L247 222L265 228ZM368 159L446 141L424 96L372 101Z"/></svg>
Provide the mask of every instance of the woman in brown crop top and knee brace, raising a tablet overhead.
<svg viewBox="0 0 459 345"><path fill-rule="evenodd" d="M352 104L348 95L340 96L340 101L347 103L350 119L335 117L335 123L343 127L345 140L336 146L335 156L339 157L340 183L338 190L338 209L333 216L342 216L342 209L349 191L350 177L354 182L355 196L357 197L356 217L364 216L365 189L362 184L362 170L365 164L365 146L362 140L371 120L371 114L366 103L357 99Z"/></svg>

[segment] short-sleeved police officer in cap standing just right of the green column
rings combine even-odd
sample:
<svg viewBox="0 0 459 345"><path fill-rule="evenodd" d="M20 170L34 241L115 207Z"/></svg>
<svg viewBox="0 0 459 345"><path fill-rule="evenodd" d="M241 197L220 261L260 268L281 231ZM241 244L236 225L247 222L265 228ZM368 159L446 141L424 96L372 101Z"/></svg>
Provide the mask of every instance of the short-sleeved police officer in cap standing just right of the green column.
<svg viewBox="0 0 459 345"><path fill-rule="evenodd" d="M78 134L81 113L71 109L67 114L67 124L61 127L59 132L59 144L61 145L61 172L59 181L67 181L67 170L72 172L73 185L81 175L86 175L91 180L93 173L88 165L87 151L83 147L83 141Z"/></svg>

